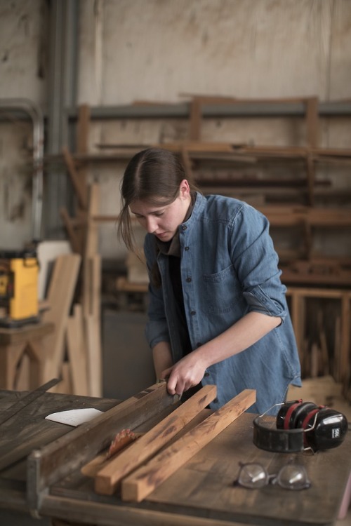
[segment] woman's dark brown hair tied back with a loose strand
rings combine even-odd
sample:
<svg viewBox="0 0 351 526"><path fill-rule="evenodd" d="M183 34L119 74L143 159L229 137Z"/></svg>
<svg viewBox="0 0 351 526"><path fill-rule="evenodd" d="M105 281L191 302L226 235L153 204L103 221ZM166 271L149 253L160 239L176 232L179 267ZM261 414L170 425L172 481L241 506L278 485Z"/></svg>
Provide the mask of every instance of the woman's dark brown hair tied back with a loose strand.
<svg viewBox="0 0 351 526"><path fill-rule="evenodd" d="M148 148L129 161L121 181L121 212L117 219L117 234L128 250L136 252L129 213L131 203L137 200L156 206L173 203L184 179L191 191L198 190L178 156L166 149Z"/></svg>

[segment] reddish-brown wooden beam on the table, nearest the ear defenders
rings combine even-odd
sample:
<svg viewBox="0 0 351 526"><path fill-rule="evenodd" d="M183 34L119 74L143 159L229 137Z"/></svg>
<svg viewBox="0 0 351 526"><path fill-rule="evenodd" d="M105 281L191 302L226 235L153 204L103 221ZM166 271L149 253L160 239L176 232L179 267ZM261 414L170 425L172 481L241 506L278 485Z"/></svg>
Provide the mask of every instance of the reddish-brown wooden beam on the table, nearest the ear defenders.
<svg viewBox="0 0 351 526"><path fill-rule="evenodd" d="M173 445L166 447L145 466L127 476L121 483L122 500L142 501L255 401L255 390L242 391Z"/></svg>

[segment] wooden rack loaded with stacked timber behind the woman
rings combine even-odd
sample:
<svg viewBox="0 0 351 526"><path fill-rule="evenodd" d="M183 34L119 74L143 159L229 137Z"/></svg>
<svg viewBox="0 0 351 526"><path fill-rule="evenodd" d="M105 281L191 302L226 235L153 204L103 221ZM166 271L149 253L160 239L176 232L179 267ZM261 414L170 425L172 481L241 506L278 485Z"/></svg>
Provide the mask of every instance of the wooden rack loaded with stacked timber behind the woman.
<svg viewBox="0 0 351 526"><path fill-rule="evenodd" d="M211 107L211 104L233 104L235 107L272 104L274 108L279 104L289 106L296 103L303 104L305 108L305 140L298 141L303 142L302 145L267 146L204 140L203 109ZM289 114L286 118L290 119ZM304 375L333 375L338 382L343 383L345 395L351 401L351 253L331 257L325 250L317 250L315 243L315 238L320 234L334 236L341 231L351 231L351 180L350 170L345 170L351 166L351 148L319 147L317 97L238 100L232 97L195 95L191 97L189 104L187 135L183 134L179 140L164 142L160 138L158 143L152 144L95 144L94 151L90 152L87 147L88 126L89 109L84 106L79 110L79 148L72 154L63 152L77 192L78 211L74 219L62 211L62 220L72 247L86 261L85 268L91 266L94 257L97 257L97 224L115 221L117 218L116 215L99 214L98 207L94 205L89 208L86 181L81 183L86 179L86 167L108 166L114 162L127 163L135 153L150 146L174 151L183 160L187 173L194 177L205 194L216 192L242 198L252 203L270 220L274 245L283 270L283 281L289 288L289 302ZM333 184L328 170L324 170L320 177L319 170L325 167L336 170L336 177L341 168L344 179L349 178L345 187ZM89 234L92 231L93 234ZM85 245L93 247L88 249L88 253L84 252L77 232L84 233L83 240L86 239L86 234L93 235L95 241ZM293 240L290 244L286 243L289 238ZM95 276L98 281L98 263L94 264L95 271L91 276ZM138 288L138 284L131 285ZM123 288L126 289L125 281ZM140 292L143 291L145 292L145 284L140 287ZM85 290L84 295L87 294ZM312 309L312 312L310 302L314 301L319 304L319 308ZM329 327L331 336L326 336L324 328L324 318L329 312L328 302L333 306L333 315L329 316L329 322L333 320L333 327Z"/></svg>

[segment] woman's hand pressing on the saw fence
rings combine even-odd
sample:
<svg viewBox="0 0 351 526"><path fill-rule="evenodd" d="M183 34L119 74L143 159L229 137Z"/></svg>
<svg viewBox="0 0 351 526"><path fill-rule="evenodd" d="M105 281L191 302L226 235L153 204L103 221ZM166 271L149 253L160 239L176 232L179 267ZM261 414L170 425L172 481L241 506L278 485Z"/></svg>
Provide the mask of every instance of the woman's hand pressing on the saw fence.
<svg viewBox="0 0 351 526"><path fill-rule="evenodd" d="M187 354L172 367L162 371L161 378L167 379L167 390L171 395L181 396L190 387L196 386L204 377L206 365L197 351Z"/></svg>

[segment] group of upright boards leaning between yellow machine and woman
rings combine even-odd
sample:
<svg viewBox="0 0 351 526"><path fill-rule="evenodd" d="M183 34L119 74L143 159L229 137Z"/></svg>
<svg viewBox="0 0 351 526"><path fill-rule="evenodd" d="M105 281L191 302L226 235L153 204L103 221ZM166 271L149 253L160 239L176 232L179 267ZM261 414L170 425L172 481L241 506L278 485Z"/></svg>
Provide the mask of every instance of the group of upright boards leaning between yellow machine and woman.
<svg viewBox="0 0 351 526"><path fill-rule="evenodd" d="M52 391L102 396L100 288L101 262L98 227L93 220L99 203L98 185L89 187L83 254L56 259L44 321L55 324L46 338L44 381L62 378ZM72 240L71 240L72 241ZM72 243L72 248L76 247ZM77 286L79 285L79 286ZM80 297L77 298L80 292Z"/></svg>

